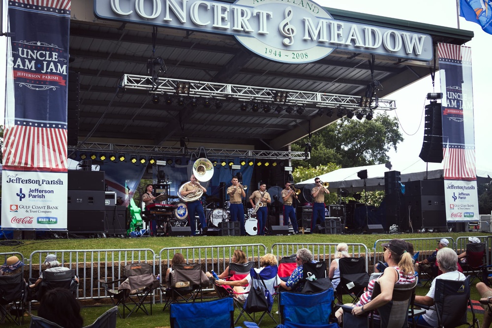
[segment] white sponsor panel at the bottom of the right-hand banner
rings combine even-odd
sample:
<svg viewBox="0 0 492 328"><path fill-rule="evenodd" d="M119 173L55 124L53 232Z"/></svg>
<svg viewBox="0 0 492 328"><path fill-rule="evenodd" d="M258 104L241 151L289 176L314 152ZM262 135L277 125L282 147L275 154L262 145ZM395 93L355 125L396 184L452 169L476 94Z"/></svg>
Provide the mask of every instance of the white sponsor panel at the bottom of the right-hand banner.
<svg viewBox="0 0 492 328"><path fill-rule="evenodd" d="M447 221L478 221L477 181L444 181Z"/></svg>

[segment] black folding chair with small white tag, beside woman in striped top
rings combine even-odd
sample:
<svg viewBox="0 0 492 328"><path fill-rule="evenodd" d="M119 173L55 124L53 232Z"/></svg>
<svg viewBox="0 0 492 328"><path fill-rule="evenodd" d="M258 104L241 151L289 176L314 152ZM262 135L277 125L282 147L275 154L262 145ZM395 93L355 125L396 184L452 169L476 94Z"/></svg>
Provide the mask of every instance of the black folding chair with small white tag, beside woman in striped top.
<svg viewBox="0 0 492 328"><path fill-rule="evenodd" d="M368 286L369 274L366 271L366 263L363 257L344 257L338 261L340 270L340 283L337 286L337 295L350 295L352 302L356 303Z"/></svg>

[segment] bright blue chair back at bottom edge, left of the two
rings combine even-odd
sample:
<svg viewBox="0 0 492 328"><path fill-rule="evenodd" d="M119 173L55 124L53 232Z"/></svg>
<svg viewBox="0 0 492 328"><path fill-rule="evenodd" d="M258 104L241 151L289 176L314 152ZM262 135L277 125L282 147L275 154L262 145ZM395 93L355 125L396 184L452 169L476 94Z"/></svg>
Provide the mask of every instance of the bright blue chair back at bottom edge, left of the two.
<svg viewBox="0 0 492 328"><path fill-rule="evenodd" d="M172 303L170 308L171 328L234 328L232 298Z"/></svg>

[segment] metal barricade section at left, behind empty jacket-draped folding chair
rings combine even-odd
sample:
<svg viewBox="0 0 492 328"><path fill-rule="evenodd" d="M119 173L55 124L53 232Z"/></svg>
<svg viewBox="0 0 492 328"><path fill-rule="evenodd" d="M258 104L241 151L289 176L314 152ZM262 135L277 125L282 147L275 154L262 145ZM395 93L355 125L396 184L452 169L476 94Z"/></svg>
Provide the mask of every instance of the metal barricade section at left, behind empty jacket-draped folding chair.
<svg viewBox="0 0 492 328"><path fill-rule="evenodd" d="M153 266L155 274L155 253L149 248L142 249L92 249L92 250L43 250L34 251L29 258L29 278L37 278L48 254L55 254L64 267L75 270L79 277L79 299L109 297L100 286L100 279L121 279L123 267L130 263L145 262ZM33 273L38 274L34 277Z"/></svg>

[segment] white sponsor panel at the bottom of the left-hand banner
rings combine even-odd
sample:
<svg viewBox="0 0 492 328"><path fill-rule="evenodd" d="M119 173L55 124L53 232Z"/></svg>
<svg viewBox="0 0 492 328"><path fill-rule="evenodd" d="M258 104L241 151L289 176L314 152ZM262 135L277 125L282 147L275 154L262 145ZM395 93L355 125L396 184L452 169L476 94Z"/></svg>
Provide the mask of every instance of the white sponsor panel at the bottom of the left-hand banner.
<svg viewBox="0 0 492 328"><path fill-rule="evenodd" d="M67 174L2 170L2 229L66 230Z"/></svg>

